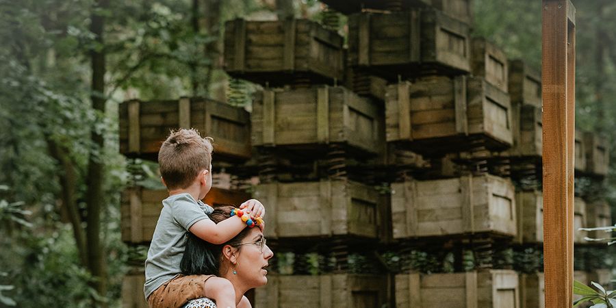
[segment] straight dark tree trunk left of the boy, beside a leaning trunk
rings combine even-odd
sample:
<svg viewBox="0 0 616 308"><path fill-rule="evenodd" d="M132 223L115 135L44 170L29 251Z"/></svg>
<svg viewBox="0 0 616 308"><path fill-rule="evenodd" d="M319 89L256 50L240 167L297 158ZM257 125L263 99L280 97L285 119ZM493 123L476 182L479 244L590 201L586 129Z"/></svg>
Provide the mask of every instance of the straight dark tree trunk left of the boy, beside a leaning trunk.
<svg viewBox="0 0 616 308"><path fill-rule="evenodd" d="M103 40L103 28L105 18L97 10L108 8L109 0L96 0L91 18L90 31L96 36L99 49L92 49L92 108L105 114L105 50ZM92 129L92 143L95 148L90 153L88 160L88 174L86 175L86 246L88 248L88 269L96 281L94 287L101 296L107 293L107 275L105 271L105 243L101 241L101 210L105 198L103 196L103 172L104 164L101 152L104 148L104 137L101 131ZM105 303L97 303L106 306Z"/></svg>

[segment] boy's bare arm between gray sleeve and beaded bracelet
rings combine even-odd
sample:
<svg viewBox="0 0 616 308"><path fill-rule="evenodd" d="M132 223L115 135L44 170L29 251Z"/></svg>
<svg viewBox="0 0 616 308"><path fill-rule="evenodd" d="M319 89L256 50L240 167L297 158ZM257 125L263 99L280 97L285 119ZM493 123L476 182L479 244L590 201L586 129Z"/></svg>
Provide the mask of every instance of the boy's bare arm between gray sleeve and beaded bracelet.
<svg viewBox="0 0 616 308"><path fill-rule="evenodd" d="M246 222L243 222L242 218L235 215L218 222L218 224L209 219L199 220L192 224L188 231L201 238L201 240L218 245L231 240L240 231L244 230L245 227Z"/></svg>

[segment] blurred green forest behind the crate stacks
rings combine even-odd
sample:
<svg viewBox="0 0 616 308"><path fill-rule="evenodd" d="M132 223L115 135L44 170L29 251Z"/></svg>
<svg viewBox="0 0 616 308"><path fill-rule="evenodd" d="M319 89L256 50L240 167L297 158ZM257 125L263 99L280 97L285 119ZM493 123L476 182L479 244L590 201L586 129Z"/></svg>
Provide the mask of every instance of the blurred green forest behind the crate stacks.
<svg viewBox="0 0 616 308"><path fill-rule="evenodd" d="M539 70L541 1L473 1L474 35ZM576 125L614 148L616 2L573 2ZM320 20L322 5L0 0L0 307L120 307L127 261L144 253L120 241L120 191L159 183L118 153L118 103L201 96L249 109L251 84L227 99L242 81L222 71L222 25L291 14ZM614 164L593 189L616 217Z"/></svg>

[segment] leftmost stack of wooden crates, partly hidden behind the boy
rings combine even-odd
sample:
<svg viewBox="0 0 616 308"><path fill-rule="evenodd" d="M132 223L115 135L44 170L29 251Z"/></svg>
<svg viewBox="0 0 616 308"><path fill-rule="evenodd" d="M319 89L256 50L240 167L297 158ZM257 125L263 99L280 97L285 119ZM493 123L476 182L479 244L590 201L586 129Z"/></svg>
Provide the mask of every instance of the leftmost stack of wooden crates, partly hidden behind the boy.
<svg viewBox="0 0 616 308"><path fill-rule="evenodd" d="M250 115L240 107L211 99L182 97L179 100L139 101L120 104L120 153L130 158L157 161L160 146L170 131L195 128L202 136L214 138L212 165L214 179L221 166L242 164L251 158ZM218 181L205 196L205 203L240 205L250 194L230 190L230 183ZM133 248L146 249L168 197L164 187L151 189L135 185L122 192L121 231L123 242ZM130 261L123 281L123 307L147 307L143 296L145 281L142 259Z"/></svg>

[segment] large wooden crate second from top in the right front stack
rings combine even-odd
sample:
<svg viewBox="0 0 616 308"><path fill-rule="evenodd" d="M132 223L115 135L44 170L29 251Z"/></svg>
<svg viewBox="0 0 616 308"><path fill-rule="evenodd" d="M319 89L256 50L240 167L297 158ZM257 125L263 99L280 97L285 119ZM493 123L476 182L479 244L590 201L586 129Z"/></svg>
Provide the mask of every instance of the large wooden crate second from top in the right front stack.
<svg viewBox="0 0 616 308"><path fill-rule="evenodd" d="M483 78L424 78L387 87L387 142L405 142L419 153L465 149L469 136L489 149L513 142L509 96Z"/></svg>

